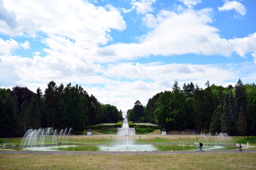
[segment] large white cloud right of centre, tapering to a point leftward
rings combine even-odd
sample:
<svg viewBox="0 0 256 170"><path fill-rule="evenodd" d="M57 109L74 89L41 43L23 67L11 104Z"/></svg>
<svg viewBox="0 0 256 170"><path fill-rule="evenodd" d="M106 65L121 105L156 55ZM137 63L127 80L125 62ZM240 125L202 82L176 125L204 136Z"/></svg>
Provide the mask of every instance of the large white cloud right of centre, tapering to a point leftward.
<svg viewBox="0 0 256 170"><path fill-rule="evenodd" d="M156 17L148 14L143 20L151 31L141 36L139 43L113 44L105 49L114 51L115 59L188 53L229 57L233 52L232 45L220 37L217 28L209 25L211 12L210 9L189 9L180 14L163 10Z"/></svg>

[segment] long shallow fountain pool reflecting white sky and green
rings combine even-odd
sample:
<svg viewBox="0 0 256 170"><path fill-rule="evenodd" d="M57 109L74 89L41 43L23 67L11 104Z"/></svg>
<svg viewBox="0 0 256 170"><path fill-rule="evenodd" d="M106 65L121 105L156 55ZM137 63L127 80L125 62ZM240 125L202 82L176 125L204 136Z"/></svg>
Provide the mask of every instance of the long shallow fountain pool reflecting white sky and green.
<svg viewBox="0 0 256 170"><path fill-rule="evenodd" d="M13 150L21 151L130 151L130 152L144 152L144 151L195 151L197 145L180 144L133 144L133 145L119 145L119 144L102 144L102 145L52 145L44 147L12 147ZM234 150L236 146L204 146L205 151L210 150Z"/></svg>

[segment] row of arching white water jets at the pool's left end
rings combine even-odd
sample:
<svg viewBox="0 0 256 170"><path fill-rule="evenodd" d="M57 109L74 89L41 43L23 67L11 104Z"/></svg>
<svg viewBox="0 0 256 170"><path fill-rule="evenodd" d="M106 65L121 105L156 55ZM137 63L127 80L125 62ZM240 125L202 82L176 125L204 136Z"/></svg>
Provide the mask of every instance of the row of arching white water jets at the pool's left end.
<svg viewBox="0 0 256 170"><path fill-rule="evenodd" d="M60 145L67 143L68 136L73 132L73 129L60 130L57 134L57 130L52 128L46 129L28 129L24 134L22 141L20 142L20 148L24 150L42 150L45 146ZM62 139L62 142L60 143Z"/></svg>

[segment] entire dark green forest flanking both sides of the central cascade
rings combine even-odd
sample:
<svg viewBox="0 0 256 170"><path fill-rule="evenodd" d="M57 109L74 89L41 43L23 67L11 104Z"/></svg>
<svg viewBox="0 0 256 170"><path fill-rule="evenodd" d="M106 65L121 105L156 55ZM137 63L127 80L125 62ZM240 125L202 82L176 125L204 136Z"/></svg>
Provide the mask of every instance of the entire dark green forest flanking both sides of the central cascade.
<svg viewBox="0 0 256 170"><path fill-rule="evenodd" d="M256 135L256 86L239 79L233 87L210 85L200 88L192 82L182 89L175 80L172 91L159 92L139 100L127 111L129 121L158 125L159 129L197 131L229 135ZM44 94L27 87L0 88L0 137L21 136L26 130L52 127L83 131L84 126L122 120L122 111L102 104L81 86L59 86L51 81Z"/></svg>

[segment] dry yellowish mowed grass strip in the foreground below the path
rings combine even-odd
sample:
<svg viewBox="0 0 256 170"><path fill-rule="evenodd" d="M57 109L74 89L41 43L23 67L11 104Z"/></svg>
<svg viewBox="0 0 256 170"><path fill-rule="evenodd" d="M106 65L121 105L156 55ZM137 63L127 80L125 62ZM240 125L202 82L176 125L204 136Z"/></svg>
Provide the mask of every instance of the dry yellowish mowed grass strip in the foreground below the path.
<svg viewBox="0 0 256 170"><path fill-rule="evenodd" d="M1 154L0 169L256 169L256 154Z"/></svg>

